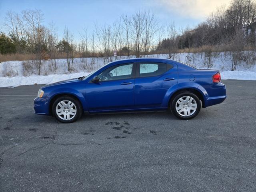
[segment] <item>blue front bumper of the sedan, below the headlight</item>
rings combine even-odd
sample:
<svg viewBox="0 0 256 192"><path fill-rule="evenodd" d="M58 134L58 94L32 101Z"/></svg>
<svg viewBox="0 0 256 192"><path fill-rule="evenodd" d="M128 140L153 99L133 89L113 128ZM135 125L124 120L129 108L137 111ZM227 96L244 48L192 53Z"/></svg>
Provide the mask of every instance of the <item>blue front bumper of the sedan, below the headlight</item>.
<svg viewBox="0 0 256 192"><path fill-rule="evenodd" d="M34 99L34 110L35 110L35 114L50 115L49 114L48 98L47 97L35 98Z"/></svg>

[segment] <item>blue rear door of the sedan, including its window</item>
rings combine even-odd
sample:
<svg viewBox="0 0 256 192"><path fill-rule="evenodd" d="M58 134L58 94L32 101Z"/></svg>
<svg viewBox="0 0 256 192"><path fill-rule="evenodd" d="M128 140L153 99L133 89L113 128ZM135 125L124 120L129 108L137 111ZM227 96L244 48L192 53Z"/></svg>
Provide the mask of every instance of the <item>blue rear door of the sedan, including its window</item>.
<svg viewBox="0 0 256 192"><path fill-rule="evenodd" d="M136 69L134 100L136 108L162 107L164 96L177 87L178 69L174 64L139 62Z"/></svg>

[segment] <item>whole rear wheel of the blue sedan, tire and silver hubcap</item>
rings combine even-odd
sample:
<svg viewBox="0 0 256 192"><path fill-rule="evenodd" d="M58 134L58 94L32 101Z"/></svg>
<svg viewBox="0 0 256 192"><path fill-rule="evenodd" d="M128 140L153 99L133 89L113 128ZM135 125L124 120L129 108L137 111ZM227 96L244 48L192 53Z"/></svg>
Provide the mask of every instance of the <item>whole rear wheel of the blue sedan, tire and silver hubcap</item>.
<svg viewBox="0 0 256 192"><path fill-rule="evenodd" d="M188 120L198 115L201 109L201 102L194 93L182 92L172 99L170 108L177 118Z"/></svg>

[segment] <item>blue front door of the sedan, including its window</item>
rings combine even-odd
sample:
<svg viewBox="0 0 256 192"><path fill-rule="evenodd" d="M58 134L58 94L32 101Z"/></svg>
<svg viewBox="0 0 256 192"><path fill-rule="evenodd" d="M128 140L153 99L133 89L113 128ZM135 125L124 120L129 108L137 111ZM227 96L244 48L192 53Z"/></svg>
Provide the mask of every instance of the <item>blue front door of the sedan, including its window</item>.
<svg viewBox="0 0 256 192"><path fill-rule="evenodd" d="M122 110L134 107L135 64L126 63L107 68L99 82L86 85L89 112Z"/></svg>

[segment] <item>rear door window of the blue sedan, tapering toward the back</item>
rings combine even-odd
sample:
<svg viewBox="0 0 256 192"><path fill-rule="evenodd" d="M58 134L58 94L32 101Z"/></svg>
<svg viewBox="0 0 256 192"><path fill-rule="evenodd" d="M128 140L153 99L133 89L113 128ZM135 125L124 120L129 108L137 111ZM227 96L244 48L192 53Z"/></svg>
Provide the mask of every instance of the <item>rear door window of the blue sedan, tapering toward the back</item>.
<svg viewBox="0 0 256 192"><path fill-rule="evenodd" d="M166 63L140 63L140 69L138 73L138 77L150 77L150 76L158 76L167 71L167 66L170 64ZM168 66L168 70L172 68L172 65Z"/></svg>

